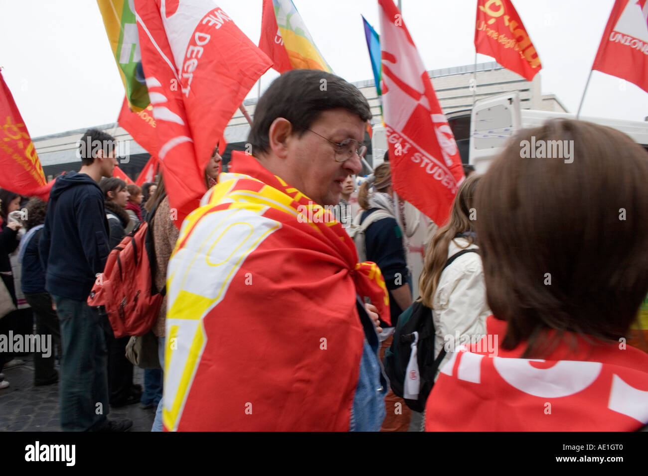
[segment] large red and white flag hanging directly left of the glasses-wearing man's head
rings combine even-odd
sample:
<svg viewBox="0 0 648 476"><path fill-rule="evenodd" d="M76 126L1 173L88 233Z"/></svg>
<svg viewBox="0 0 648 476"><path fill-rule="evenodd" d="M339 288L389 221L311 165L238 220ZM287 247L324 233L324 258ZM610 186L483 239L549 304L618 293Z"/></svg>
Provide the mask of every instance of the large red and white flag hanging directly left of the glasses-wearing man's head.
<svg viewBox="0 0 648 476"><path fill-rule="evenodd" d="M179 225L206 192L203 174L227 122L272 65L210 0L135 0L165 187Z"/></svg>

